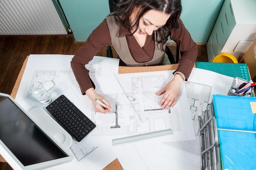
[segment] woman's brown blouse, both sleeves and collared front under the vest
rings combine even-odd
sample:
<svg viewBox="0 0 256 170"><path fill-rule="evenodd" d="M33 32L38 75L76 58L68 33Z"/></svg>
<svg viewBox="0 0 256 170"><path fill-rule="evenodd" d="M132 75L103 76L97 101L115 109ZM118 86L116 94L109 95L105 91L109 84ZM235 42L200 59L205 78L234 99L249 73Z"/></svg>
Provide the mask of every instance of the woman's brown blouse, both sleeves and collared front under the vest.
<svg viewBox="0 0 256 170"><path fill-rule="evenodd" d="M186 79L188 79L198 55L198 49L180 19L179 24L180 28L171 32L170 39L176 42L180 51L183 52L176 71L182 72ZM130 33L131 32L124 27L120 27L119 29L119 37L126 36L129 50L134 60L136 62L150 61L154 55L155 49L154 34L147 37L145 45L141 48L135 38L129 36ZM89 88L95 88L89 77L89 71L85 68L85 64L88 64L93 59L94 55L96 55L98 51L101 51L106 45L112 45L112 42L107 21L104 19L103 22L92 31L86 42L79 47L71 61L72 71L83 95Z"/></svg>

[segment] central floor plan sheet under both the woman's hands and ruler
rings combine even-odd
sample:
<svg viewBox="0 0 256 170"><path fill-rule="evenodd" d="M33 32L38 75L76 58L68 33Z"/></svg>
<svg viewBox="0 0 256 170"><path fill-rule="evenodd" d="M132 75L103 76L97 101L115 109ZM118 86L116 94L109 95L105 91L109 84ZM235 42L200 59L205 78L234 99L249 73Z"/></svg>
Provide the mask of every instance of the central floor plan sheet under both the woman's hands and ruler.
<svg viewBox="0 0 256 170"><path fill-rule="evenodd" d="M156 93L173 76L171 72L132 73L117 76L117 93L104 94L116 113L95 113L96 128L86 139L86 145L112 144L112 139L139 135L147 132L172 129L171 140L195 139L186 92L180 102L167 110L159 106L162 96ZM109 78L109 77L108 77ZM97 90L97 89L95 89ZM110 90L108 90L110 91ZM186 125L186 126L185 126ZM104 136L105 140L102 139ZM167 138L167 137L166 137ZM96 142L96 143L95 143Z"/></svg>

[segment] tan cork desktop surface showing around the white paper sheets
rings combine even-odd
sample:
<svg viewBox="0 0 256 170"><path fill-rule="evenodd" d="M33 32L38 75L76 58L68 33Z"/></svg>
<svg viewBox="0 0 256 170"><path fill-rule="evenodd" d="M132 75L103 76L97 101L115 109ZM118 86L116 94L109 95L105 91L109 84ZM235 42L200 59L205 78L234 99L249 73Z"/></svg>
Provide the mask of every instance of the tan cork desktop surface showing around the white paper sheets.
<svg viewBox="0 0 256 170"><path fill-rule="evenodd" d="M28 57L25 59L22 68L20 70L20 73L18 75L18 78L16 80L16 83L13 87L13 90L11 92L11 97L13 97L13 99L15 99L16 94L18 92L18 88L20 86L20 82L22 79L22 75L25 71L26 68L26 64L27 64L27 60ZM124 74L124 73L139 73L139 72L149 72L149 71L167 71L167 70L176 70L177 69L178 64L172 64L172 65L165 65L165 66L146 66L146 67L127 67L127 66L119 66L119 70L118 73L119 74ZM195 67L195 66L194 66ZM0 162L6 162L2 156L0 155ZM118 161L118 159L115 159L114 161L112 161L110 164L108 164L108 166L106 166L105 168L103 168L103 170L124 170L120 164L120 162Z"/></svg>

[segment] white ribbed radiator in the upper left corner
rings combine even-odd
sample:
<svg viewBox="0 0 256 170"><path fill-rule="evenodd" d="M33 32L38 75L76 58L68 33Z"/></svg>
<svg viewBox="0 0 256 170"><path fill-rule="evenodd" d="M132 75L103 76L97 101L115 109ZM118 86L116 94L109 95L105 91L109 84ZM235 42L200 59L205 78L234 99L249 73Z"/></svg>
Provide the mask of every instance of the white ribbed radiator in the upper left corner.
<svg viewBox="0 0 256 170"><path fill-rule="evenodd" d="M0 35L67 34L52 0L0 0Z"/></svg>

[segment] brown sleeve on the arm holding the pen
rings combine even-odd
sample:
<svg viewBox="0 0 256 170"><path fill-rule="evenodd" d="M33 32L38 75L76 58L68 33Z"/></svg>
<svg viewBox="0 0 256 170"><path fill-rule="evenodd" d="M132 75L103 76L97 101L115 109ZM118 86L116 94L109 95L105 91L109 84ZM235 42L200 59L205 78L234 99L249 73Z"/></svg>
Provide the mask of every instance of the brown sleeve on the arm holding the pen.
<svg viewBox="0 0 256 170"><path fill-rule="evenodd" d="M85 91L89 88L95 88L94 83L90 79L89 70L85 68L85 64L88 64L98 51L111 44L110 32L105 19L92 31L86 42L79 47L72 58L71 68L83 95L85 95Z"/></svg>

